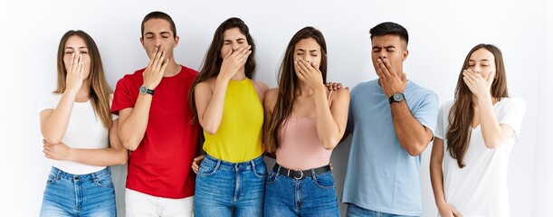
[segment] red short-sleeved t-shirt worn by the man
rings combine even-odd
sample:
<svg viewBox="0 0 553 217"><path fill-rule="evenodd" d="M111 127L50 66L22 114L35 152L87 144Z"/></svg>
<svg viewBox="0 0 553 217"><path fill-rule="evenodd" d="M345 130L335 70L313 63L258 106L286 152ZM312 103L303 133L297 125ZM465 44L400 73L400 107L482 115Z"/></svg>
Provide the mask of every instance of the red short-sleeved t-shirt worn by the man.
<svg viewBox="0 0 553 217"><path fill-rule="evenodd" d="M145 69L117 82L111 113L134 108ZM194 195L195 175L190 166L195 156L198 125L190 124L188 91L197 71L182 66L173 77L164 77L149 110L148 127L138 148L130 153L127 188L166 198Z"/></svg>

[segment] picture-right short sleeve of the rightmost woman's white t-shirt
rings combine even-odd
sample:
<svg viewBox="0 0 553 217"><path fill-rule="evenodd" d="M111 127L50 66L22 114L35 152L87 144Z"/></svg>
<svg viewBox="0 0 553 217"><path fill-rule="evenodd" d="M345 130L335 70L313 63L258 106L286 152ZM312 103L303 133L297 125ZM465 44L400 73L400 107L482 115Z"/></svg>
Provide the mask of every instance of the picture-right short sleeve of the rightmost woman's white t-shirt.
<svg viewBox="0 0 553 217"><path fill-rule="evenodd" d="M500 110L498 110L498 122L512 127L514 137L519 137L522 119L526 114L526 103L520 98L502 99Z"/></svg>

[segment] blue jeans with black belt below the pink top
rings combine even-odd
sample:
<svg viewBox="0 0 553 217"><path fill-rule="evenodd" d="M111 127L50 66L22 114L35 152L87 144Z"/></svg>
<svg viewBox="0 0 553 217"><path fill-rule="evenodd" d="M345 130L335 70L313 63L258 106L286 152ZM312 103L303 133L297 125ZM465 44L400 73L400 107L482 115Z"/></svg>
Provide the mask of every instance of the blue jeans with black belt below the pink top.
<svg viewBox="0 0 553 217"><path fill-rule="evenodd" d="M265 216L339 216L332 172L294 179L271 171L265 185Z"/></svg>

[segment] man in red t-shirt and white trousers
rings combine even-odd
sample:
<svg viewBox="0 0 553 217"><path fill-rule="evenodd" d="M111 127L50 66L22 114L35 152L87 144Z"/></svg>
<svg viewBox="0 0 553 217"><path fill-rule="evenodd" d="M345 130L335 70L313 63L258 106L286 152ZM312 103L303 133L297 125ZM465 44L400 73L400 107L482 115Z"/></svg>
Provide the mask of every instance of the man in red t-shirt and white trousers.
<svg viewBox="0 0 553 217"><path fill-rule="evenodd" d="M125 192L127 216L192 216L197 124L191 124L188 91L197 71L177 64L175 23L152 12L142 21L140 42L148 67L118 81L111 112L130 151ZM195 122L197 123L197 121Z"/></svg>

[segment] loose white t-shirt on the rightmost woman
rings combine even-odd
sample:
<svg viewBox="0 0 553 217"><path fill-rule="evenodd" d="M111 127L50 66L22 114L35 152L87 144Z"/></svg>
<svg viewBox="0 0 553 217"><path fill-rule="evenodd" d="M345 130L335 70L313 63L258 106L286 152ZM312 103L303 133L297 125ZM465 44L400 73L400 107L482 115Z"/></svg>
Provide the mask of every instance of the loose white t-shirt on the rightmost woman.
<svg viewBox="0 0 553 217"><path fill-rule="evenodd" d="M447 150L448 116L453 101L445 103L438 114L435 137L443 139L443 191L445 201L465 217L508 217L509 193L507 170L512 147L519 137L520 125L526 104L519 98L504 98L493 105L495 118L500 124L514 129L514 136L501 146L490 149L484 144L480 125L473 128L468 150L463 158L464 167Z"/></svg>

